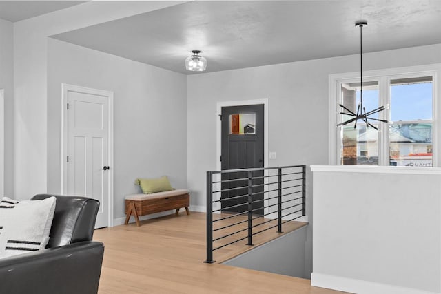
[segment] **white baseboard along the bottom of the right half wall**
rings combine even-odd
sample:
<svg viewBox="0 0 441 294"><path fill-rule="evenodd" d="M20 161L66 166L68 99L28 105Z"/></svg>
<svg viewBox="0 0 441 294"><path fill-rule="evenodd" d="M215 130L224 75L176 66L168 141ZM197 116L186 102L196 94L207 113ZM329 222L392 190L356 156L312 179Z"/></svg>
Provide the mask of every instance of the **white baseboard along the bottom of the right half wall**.
<svg viewBox="0 0 441 294"><path fill-rule="evenodd" d="M322 273L311 273L311 286L358 294L440 294L440 292L404 288L389 284L350 279L348 277L325 275Z"/></svg>

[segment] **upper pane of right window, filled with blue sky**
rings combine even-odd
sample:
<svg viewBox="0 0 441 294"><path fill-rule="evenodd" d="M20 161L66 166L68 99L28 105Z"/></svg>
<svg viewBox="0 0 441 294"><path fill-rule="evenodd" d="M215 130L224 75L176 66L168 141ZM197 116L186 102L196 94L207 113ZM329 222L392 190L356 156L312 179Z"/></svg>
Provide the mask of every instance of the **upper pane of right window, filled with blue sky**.
<svg viewBox="0 0 441 294"><path fill-rule="evenodd" d="M391 80L393 122L432 119L432 77Z"/></svg>

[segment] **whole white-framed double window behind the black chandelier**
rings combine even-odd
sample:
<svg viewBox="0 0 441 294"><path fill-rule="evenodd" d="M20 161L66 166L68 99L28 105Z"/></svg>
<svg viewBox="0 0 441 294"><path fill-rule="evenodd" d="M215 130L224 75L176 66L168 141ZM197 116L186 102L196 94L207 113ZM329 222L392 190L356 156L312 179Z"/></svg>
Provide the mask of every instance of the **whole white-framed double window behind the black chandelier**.
<svg viewBox="0 0 441 294"><path fill-rule="evenodd" d="M330 142L331 145L335 144L336 149L330 147L335 152L333 157L337 165L436 165L434 160L437 149L433 137L436 128L435 77L438 68L418 71L418 74L416 72L413 68L407 68L364 73L368 78L366 81L363 78L363 106L369 112L384 105L386 110L370 117L389 120L389 123L371 120L370 123L378 127L378 131L361 120L334 128L335 131L330 128L334 143L333 139ZM330 83L336 85L336 108L331 107L331 111L336 113L336 125L351 118L341 113L338 104L357 112L360 77L357 74L330 76Z"/></svg>

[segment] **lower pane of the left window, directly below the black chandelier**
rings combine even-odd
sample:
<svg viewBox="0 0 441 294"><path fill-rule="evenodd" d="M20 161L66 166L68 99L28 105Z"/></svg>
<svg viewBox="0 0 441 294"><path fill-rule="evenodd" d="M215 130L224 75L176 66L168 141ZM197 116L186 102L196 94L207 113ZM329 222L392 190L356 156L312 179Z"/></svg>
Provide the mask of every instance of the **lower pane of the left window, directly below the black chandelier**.
<svg viewBox="0 0 441 294"><path fill-rule="evenodd" d="M362 122L356 129L342 127L341 146L342 165L378 165L378 131L373 127Z"/></svg>

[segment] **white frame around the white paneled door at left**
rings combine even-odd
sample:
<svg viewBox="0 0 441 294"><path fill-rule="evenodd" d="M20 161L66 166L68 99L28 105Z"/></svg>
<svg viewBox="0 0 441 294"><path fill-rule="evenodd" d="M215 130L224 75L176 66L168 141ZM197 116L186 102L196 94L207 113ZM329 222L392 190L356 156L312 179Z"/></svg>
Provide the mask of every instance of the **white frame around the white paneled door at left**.
<svg viewBox="0 0 441 294"><path fill-rule="evenodd" d="M68 92L86 92L94 95L106 96L109 98L109 219L108 227L113 227L113 92L106 90L93 89L90 87L82 87L61 83L61 193L65 195L68 187L68 165L65 160L68 155Z"/></svg>

